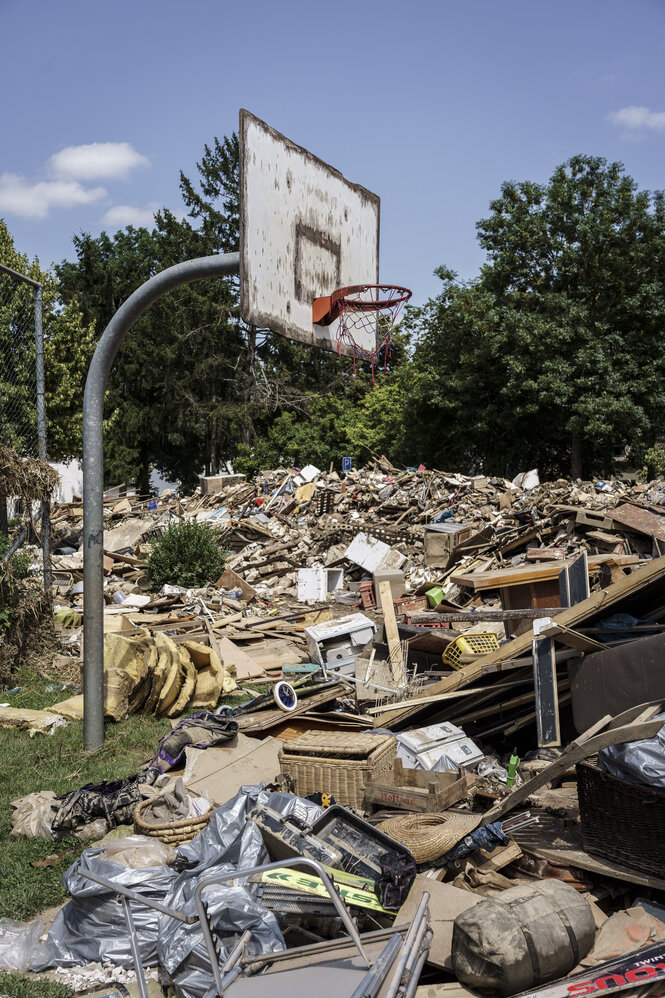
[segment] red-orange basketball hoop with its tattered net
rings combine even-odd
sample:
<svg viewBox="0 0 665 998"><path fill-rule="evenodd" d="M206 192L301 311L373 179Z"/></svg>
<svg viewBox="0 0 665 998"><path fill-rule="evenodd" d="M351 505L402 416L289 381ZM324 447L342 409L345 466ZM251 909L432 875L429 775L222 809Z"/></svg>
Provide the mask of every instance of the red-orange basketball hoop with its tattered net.
<svg viewBox="0 0 665 998"><path fill-rule="evenodd" d="M384 370L390 355L390 339L402 307L411 297L408 288L395 284L354 284L339 288L325 298L315 298L312 303L312 321L319 326L329 326L339 319L337 327L337 352L342 345L353 350L353 373L356 354L374 364L381 350L384 353ZM360 341L374 342L373 350L360 345Z"/></svg>

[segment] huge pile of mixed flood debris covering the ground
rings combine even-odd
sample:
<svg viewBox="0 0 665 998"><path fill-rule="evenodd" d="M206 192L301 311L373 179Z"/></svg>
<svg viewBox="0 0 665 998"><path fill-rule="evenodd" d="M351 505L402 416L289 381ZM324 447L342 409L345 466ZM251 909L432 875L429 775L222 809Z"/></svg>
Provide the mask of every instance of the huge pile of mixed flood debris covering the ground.
<svg viewBox="0 0 665 998"><path fill-rule="evenodd" d="M120 784L12 802L15 835L95 843L21 969L157 968L177 998L652 993L665 482L381 459L104 502L106 714L173 727ZM54 515L71 661L80 513ZM147 546L186 519L224 572L151 593Z"/></svg>

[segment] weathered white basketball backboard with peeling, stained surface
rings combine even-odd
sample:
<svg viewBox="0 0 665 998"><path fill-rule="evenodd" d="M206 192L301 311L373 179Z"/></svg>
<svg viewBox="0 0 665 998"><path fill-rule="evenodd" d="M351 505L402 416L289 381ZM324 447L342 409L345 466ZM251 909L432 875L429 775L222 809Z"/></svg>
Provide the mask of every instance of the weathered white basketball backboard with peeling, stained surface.
<svg viewBox="0 0 665 998"><path fill-rule="evenodd" d="M312 302L379 282L376 194L240 111L242 317L280 336L337 350L338 321L312 323ZM358 346L372 352L376 330ZM341 352L353 353L350 344Z"/></svg>

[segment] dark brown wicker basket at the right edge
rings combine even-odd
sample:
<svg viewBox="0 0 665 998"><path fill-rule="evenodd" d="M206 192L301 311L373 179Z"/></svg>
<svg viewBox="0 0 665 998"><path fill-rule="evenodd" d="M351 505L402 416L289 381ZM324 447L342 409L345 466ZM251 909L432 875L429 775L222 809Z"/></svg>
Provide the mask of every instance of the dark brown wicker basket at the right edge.
<svg viewBox="0 0 665 998"><path fill-rule="evenodd" d="M577 765L582 841L587 852L660 877L665 868L665 790Z"/></svg>

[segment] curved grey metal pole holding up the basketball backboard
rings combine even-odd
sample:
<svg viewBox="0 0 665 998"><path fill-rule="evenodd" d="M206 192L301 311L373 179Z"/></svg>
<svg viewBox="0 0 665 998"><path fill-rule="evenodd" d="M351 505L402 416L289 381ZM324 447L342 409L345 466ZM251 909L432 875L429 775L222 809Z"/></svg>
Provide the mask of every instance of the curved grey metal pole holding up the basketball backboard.
<svg viewBox="0 0 665 998"><path fill-rule="evenodd" d="M240 254L204 256L151 277L115 313L90 362L83 396L83 748L104 743L104 448L106 379L120 344L136 320L169 291L240 270Z"/></svg>

